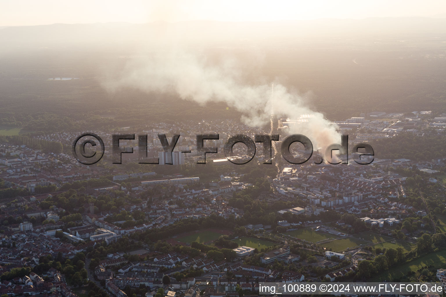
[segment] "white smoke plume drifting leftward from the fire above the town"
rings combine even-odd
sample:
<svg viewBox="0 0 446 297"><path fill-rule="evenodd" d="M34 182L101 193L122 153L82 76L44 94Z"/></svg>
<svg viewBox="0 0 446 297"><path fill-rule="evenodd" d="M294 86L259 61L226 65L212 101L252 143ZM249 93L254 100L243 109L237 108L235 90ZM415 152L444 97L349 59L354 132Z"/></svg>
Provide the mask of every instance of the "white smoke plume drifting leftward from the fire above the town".
<svg viewBox="0 0 446 297"><path fill-rule="evenodd" d="M279 117L291 119L313 114L309 122L289 132L306 135L315 149L340 142L336 126L307 107L299 95L292 94L284 85L275 82L272 94L271 83L252 85L243 81L246 81L244 69L233 59L215 65L203 54L164 49L128 59L118 78L109 80L106 88L110 91L134 87L147 92L175 92L181 99L200 104L225 102L240 111L242 121L249 126L269 123L272 108ZM281 135L281 139L284 137Z"/></svg>

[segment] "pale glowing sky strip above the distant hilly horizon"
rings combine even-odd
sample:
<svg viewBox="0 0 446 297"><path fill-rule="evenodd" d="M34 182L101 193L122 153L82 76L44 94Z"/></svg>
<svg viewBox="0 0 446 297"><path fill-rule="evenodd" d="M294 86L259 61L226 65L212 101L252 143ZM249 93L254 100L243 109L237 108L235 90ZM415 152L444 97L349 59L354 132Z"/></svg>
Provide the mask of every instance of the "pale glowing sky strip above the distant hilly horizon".
<svg viewBox="0 0 446 297"><path fill-rule="evenodd" d="M446 16L445 0L1 0L0 26Z"/></svg>

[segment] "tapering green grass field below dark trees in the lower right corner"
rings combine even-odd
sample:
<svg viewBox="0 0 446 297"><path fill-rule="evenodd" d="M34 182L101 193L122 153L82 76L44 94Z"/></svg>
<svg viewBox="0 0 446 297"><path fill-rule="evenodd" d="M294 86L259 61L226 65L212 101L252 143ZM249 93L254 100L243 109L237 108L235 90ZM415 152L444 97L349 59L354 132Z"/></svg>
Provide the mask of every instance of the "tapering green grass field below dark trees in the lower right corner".
<svg viewBox="0 0 446 297"><path fill-rule="evenodd" d="M381 280L394 280L404 276L409 271L417 271L421 267L431 266L434 269L444 268L444 263L446 262L446 251L433 252L422 256L416 260L410 261L409 263L398 265L392 269L383 271L379 273L370 281L381 281Z"/></svg>

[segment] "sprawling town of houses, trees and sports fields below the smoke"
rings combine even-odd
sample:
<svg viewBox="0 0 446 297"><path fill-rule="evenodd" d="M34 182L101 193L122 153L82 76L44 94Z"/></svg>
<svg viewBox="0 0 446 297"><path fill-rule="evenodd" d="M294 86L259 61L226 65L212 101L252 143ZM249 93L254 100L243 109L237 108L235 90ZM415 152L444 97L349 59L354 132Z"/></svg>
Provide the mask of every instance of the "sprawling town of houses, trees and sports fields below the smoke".
<svg viewBox="0 0 446 297"><path fill-rule="evenodd" d="M285 131L290 120L278 121ZM446 284L431 262L446 257L445 158L414 161L402 146L407 158L394 159L382 145L444 134L445 114L372 112L336 124L351 145L373 144L371 164L240 166L221 153L196 164L194 122L140 132L157 155L157 134L191 131L173 165L139 164L136 141L121 143L135 151L122 167L111 163L109 141L104 161L83 165L65 150L81 131L2 136L0 294L212 297L257 295L262 281ZM232 121L200 127L268 133ZM213 141L219 151L226 134Z"/></svg>

